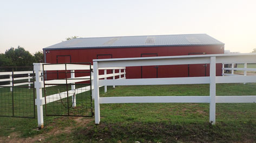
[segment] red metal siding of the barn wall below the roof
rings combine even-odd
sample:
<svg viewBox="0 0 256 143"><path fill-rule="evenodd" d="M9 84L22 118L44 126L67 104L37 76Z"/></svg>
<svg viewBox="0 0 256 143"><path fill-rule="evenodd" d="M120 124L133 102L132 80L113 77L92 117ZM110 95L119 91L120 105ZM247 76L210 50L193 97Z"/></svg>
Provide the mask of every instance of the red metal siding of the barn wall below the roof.
<svg viewBox="0 0 256 143"><path fill-rule="evenodd" d="M57 55L70 55L71 62L93 62L97 55L111 54L113 58L136 58L142 54L156 53L157 56L188 55L188 53L223 54L222 46L176 46L176 47L136 47L136 48L98 48L98 49L58 49L47 50L46 62L56 63ZM102 59L102 58L101 58ZM153 69L155 66L152 66ZM216 65L216 75L221 75L221 64ZM146 69L146 68L145 68ZM144 70L144 68L143 68ZM117 71L117 70L116 70ZM141 67L127 67L127 78L141 78ZM189 76L205 76L204 65L189 65ZM155 71L152 71L155 72ZM152 73L143 71L143 77L150 77ZM159 66L157 77L187 77L188 65ZM206 67L209 76L209 66Z"/></svg>

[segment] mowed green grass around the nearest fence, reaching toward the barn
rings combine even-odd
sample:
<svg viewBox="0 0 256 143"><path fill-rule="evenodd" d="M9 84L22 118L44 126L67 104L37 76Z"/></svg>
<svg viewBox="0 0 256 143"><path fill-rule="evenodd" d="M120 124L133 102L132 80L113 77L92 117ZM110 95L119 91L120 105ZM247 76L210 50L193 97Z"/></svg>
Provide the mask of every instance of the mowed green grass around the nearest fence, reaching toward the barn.
<svg viewBox="0 0 256 143"><path fill-rule="evenodd" d="M208 84L108 87L111 96L207 96ZM217 84L216 95L255 95L256 84ZM216 104L216 125L209 123L209 104L101 104L101 123L94 117L0 117L0 142L255 142L256 103ZM8 138L10 136L10 138Z"/></svg>

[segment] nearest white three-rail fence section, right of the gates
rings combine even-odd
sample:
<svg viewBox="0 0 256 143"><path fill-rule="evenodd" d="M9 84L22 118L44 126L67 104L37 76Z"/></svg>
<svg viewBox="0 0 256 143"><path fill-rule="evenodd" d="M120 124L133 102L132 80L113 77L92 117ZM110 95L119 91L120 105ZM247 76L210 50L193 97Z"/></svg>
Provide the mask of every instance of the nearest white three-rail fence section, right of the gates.
<svg viewBox="0 0 256 143"><path fill-rule="evenodd" d="M255 103L256 96L216 96L216 83L255 83L256 76L216 76L216 63L255 63L256 54L213 54L186 56L158 56L147 58L97 59L93 60L95 124L100 124L100 104L106 103L209 103L209 122L215 124L216 103ZM140 78L101 80L99 69L108 67L161 66L210 64L207 77ZM129 96L100 97L103 85L163 85L163 84L209 84L209 96ZM147 93L145 93L147 94Z"/></svg>

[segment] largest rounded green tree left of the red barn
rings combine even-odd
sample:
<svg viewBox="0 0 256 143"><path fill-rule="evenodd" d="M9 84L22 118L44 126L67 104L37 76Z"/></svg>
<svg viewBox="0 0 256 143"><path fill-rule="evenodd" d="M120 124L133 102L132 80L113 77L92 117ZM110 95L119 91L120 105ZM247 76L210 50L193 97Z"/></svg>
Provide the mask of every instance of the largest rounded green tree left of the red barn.
<svg viewBox="0 0 256 143"><path fill-rule="evenodd" d="M29 51L25 51L21 46L17 48L11 47L6 50L5 57L11 59L15 66L33 66L33 62L35 61L34 56Z"/></svg>

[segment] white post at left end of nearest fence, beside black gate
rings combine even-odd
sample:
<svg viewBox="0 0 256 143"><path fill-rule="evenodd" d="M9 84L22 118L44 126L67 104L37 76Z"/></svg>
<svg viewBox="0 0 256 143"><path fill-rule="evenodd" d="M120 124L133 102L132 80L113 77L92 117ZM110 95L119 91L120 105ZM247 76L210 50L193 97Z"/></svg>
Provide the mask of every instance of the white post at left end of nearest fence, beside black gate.
<svg viewBox="0 0 256 143"><path fill-rule="evenodd" d="M99 92L99 68L98 62L93 62L94 71L94 110L95 110L95 124L100 124L100 92Z"/></svg>

